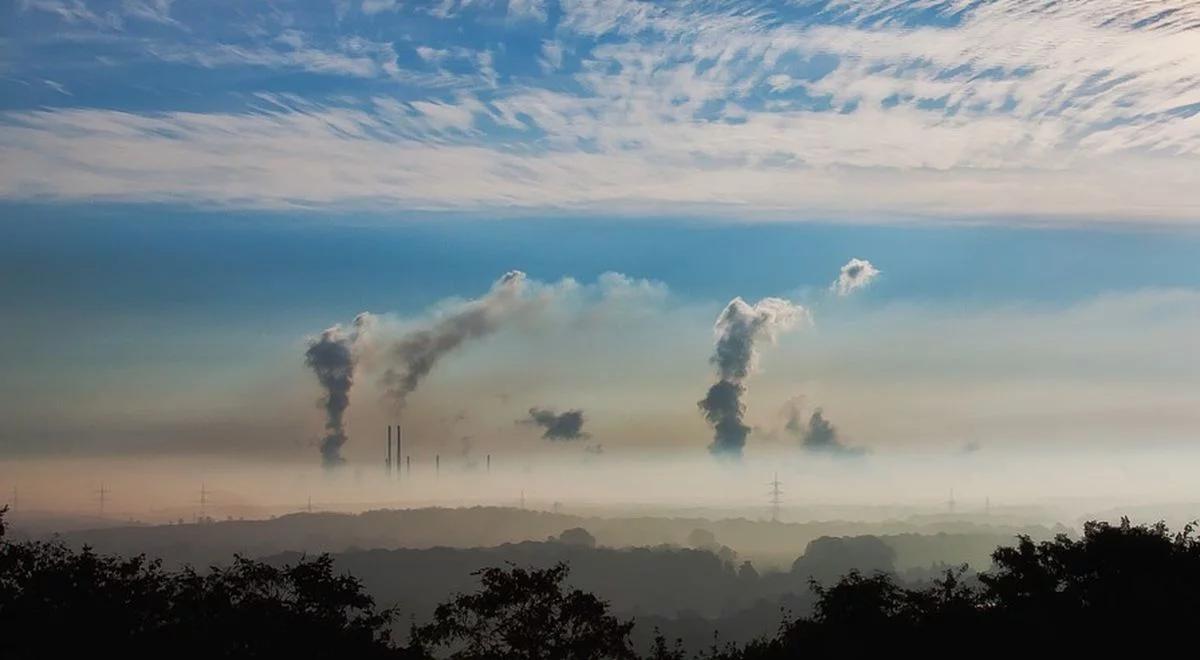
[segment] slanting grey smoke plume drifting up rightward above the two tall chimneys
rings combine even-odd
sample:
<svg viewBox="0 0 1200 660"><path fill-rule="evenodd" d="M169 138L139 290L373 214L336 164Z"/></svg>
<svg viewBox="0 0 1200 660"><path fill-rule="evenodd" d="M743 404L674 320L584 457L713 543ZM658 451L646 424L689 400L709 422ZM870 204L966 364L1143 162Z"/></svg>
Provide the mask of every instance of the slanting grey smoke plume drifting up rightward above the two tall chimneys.
<svg viewBox="0 0 1200 660"><path fill-rule="evenodd" d="M467 340L494 332L521 306L526 275L518 270L500 277L487 295L463 302L430 328L414 330L386 347L388 368L383 382L388 394L403 407L413 391L443 356Z"/></svg>

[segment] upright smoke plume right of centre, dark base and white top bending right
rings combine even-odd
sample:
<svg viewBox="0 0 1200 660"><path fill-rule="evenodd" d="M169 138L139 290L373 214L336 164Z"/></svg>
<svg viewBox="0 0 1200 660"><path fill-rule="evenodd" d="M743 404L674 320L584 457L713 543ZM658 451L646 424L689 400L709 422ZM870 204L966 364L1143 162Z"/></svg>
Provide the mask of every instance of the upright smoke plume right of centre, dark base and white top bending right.
<svg viewBox="0 0 1200 660"><path fill-rule="evenodd" d="M743 422L745 380L758 364L758 342L774 342L780 332L808 320L804 307L780 298L764 298L749 305L734 298L721 312L714 328L716 348L712 362L718 380L697 406L713 426L713 444L708 450L715 456L740 457L750 427Z"/></svg>

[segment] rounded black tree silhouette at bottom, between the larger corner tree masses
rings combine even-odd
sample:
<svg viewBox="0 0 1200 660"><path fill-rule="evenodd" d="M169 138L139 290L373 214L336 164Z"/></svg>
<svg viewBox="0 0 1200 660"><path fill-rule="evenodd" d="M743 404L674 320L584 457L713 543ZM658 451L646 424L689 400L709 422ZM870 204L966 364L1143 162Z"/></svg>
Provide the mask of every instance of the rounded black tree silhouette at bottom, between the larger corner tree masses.
<svg viewBox="0 0 1200 660"><path fill-rule="evenodd" d="M604 600L568 589L568 572L563 563L476 571L480 589L439 605L433 622L414 631L413 643L462 660L636 658L629 641L634 623L610 614Z"/></svg>

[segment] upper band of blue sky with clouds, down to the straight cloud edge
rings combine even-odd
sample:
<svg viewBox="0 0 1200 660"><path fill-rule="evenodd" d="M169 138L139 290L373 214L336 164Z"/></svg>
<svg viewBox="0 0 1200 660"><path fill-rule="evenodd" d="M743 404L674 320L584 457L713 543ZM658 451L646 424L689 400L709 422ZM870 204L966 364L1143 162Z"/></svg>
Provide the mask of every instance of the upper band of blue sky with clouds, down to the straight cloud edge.
<svg viewBox="0 0 1200 660"><path fill-rule="evenodd" d="M0 196L1187 223L1200 10L18 0Z"/></svg>

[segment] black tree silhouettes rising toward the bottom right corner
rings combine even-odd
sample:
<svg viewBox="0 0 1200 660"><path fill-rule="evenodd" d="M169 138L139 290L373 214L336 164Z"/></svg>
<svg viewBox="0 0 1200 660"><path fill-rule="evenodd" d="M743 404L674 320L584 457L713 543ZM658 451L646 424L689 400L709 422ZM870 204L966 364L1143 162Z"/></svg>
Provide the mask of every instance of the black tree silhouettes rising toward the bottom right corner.
<svg viewBox="0 0 1200 660"><path fill-rule="evenodd" d="M739 660L808 654L875 656L974 650L986 655L1112 653L1170 648L1200 623L1200 541L1194 527L1090 522L1080 539L1019 538L992 554L979 586L966 568L912 589L890 574L851 571L830 587L812 583L814 614L750 643ZM1120 637L1110 634L1120 631ZM980 642L986 647L979 647Z"/></svg>

